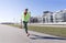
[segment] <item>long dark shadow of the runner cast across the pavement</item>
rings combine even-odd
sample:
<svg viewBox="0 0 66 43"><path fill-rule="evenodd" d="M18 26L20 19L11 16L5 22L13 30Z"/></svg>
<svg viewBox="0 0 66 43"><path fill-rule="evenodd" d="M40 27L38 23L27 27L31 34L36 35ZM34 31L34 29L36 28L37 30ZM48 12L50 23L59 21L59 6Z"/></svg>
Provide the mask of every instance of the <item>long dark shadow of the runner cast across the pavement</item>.
<svg viewBox="0 0 66 43"><path fill-rule="evenodd" d="M64 37L53 37L53 36L41 36L41 35L35 35L35 34L31 34L32 35L32 37L30 37L30 39L32 39L32 40L66 40L66 37L64 39Z"/></svg>

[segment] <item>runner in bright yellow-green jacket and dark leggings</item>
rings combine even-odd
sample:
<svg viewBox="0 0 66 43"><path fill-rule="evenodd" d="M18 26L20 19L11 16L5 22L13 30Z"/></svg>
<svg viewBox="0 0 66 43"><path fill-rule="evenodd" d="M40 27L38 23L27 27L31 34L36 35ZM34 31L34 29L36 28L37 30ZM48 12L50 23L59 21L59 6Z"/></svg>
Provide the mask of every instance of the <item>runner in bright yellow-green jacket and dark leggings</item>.
<svg viewBox="0 0 66 43"><path fill-rule="evenodd" d="M30 33L28 32L28 22L29 22L30 18L31 18L31 13L29 12L29 9L25 9L22 14L22 21L23 21L25 33L28 36L30 35Z"/></svg>

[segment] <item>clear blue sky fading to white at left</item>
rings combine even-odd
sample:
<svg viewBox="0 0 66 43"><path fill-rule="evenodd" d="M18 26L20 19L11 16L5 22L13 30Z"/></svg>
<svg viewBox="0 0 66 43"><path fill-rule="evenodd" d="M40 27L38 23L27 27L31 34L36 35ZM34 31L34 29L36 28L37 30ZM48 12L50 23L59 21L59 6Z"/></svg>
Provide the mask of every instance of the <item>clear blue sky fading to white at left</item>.
<svg viewBox="0 0 66 43"><path fill-rule="evenodd" d="M0 22L19 22L26 8L32 17L42 15L66 9L66 0L0 0Z"/></svg>

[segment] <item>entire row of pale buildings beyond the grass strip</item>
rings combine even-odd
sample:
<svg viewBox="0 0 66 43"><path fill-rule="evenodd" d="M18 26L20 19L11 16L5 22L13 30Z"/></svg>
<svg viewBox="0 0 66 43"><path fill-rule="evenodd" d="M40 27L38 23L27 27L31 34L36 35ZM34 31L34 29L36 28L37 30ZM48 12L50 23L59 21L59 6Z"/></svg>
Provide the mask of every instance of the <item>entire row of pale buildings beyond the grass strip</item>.
<svg viewBox="0 0 66 43"><path fill-rule="evenodd" d="M57 23L66 22L66 9L56 12L44 11L43 15L32 17L31 23Z"/></svg>

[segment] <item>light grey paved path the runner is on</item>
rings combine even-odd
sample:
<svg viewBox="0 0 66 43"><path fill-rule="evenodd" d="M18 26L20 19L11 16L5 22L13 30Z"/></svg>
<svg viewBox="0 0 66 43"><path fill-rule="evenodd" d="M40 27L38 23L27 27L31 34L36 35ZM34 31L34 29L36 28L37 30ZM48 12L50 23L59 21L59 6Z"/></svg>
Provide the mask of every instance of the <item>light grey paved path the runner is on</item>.
<svg viewBox="0 0 66 43"><path fill-rule="evenodd" d="M66 43L66 39L0 24L0 43Z"/></svg>

